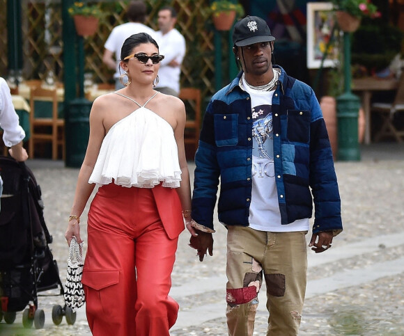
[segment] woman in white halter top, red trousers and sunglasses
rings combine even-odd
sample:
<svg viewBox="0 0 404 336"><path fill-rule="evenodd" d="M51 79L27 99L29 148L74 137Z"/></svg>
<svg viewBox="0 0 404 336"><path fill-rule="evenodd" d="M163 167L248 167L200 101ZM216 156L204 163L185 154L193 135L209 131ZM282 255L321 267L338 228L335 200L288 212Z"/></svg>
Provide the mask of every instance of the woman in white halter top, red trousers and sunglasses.
<svg viewBox="0 0 404 336"><path fill-rule="evenodd" d="M169 335L178 314L168 294L182 214L194 233L185 107L153 90L164 58L158 52L146 33L127 38L120 63L125 88L95 99L90 113L65 238L81 241L79 217L97 184L81 281L93 335Z"/></svg>

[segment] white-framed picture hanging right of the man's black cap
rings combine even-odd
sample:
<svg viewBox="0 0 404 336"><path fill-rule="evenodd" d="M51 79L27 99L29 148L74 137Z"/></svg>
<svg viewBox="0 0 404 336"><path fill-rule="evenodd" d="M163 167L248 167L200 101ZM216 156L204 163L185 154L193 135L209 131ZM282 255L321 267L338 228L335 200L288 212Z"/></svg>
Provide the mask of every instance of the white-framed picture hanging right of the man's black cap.
<svg viewBox="0 0 404 336"><path fill-rule="evenodd" d="M307 67L318 69L331 39L335 24L334 11L330 2L307 3ZM338 29L334 30L334 39L329 44L323 67L335 67L338 62Z"/></svg>

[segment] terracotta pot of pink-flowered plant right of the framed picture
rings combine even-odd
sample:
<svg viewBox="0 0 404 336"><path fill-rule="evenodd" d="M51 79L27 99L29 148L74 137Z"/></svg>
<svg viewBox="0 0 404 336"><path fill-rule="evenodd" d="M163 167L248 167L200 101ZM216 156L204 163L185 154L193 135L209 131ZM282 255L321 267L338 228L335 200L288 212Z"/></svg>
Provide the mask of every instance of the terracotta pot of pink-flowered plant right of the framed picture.
<svg viewBox="0 0 404 336"><path fill-rule="evenodd" d="M362 17L380 17L378 8L371 0L332 0L336 21L342 31L352 32L359 28Z"/></svg>

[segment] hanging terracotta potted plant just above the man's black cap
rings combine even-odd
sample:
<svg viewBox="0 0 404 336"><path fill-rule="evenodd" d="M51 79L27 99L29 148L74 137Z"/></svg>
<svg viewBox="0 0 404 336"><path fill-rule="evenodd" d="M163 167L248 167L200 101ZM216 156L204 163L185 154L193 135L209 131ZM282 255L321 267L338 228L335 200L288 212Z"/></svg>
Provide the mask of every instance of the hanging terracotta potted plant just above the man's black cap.
<svg viewBox="0 0 404 336"><path fill-rule="evenodd" d="M240 3L227 0L213 1L210 5L212 21L218 31L228 31L233 25L235 17L244 15L244 8Z"/></svg>

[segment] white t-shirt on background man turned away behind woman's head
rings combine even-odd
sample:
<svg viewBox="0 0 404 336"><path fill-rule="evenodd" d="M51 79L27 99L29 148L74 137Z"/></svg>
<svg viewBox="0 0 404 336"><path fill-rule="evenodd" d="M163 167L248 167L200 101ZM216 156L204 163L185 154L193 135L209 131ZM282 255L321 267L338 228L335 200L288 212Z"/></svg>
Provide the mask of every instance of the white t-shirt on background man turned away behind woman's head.
<svg viewBox="0 0 404 336"><path fill-rule="evenodd" d="M123 42L133 34L148 33L152 38L156 39L156 32L150 27L139 22L127 22L120 24L112 29L111 33L105 42L104 47L109 51L114 52L116 58L116 72L114 78L119 78L119 62L121 62L121 49Z"/></svg>

